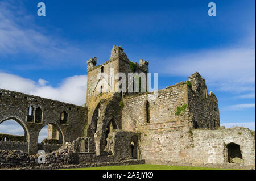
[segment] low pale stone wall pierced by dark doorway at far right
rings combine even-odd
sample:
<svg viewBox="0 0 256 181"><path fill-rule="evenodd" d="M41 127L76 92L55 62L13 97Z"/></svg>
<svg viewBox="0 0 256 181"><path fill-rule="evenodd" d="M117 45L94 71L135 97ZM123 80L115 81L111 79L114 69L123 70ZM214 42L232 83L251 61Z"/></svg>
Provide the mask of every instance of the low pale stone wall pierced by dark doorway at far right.
<svg viewBox="0 0 256 181"><path fill-rule="evenodd" d="M234 127L218 130L193 130L193 163L228 163L226 145L240 145L243 164L255 167L255 132L248 128Z"/></svg>

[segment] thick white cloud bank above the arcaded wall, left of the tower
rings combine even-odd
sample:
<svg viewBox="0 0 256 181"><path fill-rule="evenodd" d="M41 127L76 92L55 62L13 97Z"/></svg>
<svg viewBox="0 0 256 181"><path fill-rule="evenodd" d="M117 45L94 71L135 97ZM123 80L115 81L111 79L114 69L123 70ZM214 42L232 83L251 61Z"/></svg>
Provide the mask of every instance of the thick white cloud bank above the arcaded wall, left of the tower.
<svg viewBox="0 0 256 181"><path fill-rule="evenodd" d="M87 75L75 75L64 79L59 87L46 86L43 79L36 83L17 75L0 72L0 88L24 92L61 102L83 105L86 102Z"/></svg>

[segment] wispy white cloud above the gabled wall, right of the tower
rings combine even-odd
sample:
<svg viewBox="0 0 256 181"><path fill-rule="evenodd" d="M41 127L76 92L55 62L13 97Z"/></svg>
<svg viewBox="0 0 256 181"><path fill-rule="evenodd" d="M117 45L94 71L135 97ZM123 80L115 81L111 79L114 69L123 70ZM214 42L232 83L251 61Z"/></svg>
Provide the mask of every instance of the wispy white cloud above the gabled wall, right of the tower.
<svg viewBox="0 0 256 181"><path fill-rule="evenodd" d="M255 48L203 50L172 57L164 73L189 76L199 73L210 87L235 93L255 92Z"/></svg>

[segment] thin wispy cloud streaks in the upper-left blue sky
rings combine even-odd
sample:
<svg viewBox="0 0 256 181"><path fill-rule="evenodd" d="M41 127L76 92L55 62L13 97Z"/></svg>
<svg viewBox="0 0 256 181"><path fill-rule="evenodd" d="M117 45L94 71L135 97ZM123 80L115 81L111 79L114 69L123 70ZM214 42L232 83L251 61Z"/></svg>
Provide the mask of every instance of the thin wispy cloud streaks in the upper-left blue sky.
<svg viewBox="0 0 256 181"><path fill-rule="evenodd" d="M43 27L36 26L34 16L27 14L20 1L0 1L0 56L7 60L27 54L34 63L81 63L85 51L61 37L48 35ZM15 58L11 58L15 57ZM2 58L3 59L3 58ZM24 61L24 60L23 60ZM26 69L35 66L24 65ZM40 66L37 66L39 68Z"/></svg>

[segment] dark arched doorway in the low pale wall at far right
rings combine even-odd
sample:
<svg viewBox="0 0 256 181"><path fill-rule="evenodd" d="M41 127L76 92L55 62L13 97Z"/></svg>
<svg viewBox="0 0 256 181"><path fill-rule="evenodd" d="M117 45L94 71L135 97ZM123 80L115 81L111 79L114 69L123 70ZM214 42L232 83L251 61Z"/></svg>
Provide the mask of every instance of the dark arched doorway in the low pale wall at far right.
<svg viewBox="0 0 256 181"><path fill-rule="evenodd" d="M229 143L226 145L228 150L228 162L229 163L243 163L242 151L240 145L235 143Z"/></svg>

